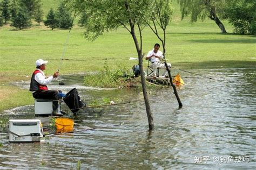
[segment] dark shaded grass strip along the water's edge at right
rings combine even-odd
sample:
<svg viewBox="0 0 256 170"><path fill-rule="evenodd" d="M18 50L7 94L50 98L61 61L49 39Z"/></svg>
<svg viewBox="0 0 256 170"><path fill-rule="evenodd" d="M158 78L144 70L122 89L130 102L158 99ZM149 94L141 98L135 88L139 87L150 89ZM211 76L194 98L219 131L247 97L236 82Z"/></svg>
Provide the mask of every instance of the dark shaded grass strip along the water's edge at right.
<svg viewBox="0 0 256 170"><path fill-rule="evenodd" d="M224 60L224 61L203 61L203 62L176 62L173 63L173 67L186 67L191 69L201 69L201 68L256 68L256 59L253 61L234 61L234 60Z"/></svg>

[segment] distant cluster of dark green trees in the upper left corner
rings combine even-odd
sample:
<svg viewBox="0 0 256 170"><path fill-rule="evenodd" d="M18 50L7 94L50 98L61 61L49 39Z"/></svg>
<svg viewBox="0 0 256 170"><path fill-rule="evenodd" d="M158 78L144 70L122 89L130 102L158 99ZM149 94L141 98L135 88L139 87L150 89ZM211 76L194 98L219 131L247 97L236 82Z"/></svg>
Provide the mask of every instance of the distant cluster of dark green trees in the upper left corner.
<svg viewBox="0 0 256 170"><path fill-rule="evenodd" d="M22 30L32 25L32 19L38 25L43 22L52 30L56 28L69 29L71 26L71 12L63 2L59 4L56 12L53 9L49 10L46 20L43 17L41 0L3 0L0 3L0 26L10 21L11 26Z"/></svg>

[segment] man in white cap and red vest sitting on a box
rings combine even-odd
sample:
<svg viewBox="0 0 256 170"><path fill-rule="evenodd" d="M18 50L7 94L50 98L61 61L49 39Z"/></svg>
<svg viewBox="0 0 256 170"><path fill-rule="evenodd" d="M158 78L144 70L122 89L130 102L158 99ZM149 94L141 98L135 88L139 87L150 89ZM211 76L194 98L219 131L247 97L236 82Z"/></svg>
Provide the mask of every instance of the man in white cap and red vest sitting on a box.
<svg viewBox="0 0 256 170"><path fill-rule="evenodd" d="M49 90L47 84L49 84L54 78L58 77L59 72L55 72L52 76L46 79L43 70L45 70L45 64L48 61L39 59L36 61L36 70L33 72L30 82L30 91L33 91L34 98L44 98L53 100L53 112L55 116L63 116L59 111L59 91Z"/></svg>

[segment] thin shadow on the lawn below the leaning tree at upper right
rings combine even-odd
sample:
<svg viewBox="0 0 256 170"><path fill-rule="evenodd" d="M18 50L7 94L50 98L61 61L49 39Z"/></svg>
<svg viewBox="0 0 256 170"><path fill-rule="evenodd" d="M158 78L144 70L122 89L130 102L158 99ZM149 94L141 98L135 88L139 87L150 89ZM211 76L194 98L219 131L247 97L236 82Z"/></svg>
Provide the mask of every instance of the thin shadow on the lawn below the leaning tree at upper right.
<svg viewBox="0 0 256 170"><path fill-rule="evenodd" d="M197 43L256 44L256 39L197 39L188 41Z"/></svg>

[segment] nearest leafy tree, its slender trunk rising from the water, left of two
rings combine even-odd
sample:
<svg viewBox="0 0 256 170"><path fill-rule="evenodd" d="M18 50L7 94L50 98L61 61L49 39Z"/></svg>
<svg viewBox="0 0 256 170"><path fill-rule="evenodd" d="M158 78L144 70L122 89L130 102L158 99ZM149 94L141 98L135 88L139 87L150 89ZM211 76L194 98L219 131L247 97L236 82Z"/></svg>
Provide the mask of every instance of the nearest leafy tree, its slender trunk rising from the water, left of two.
<svg viewBox="0 0 256 170"><path fill-rule="evenodd" d="M85 26L85 38L94 40L105 31L124 27L132 36L139 59L140 79L142 82L143 97L145 101L149 129L153 130L153 115L147 97L146 81L143 71L142 31L145 20L152 11L152 1L149 0L106 0L91 1L79 0L66 1L72 9L86 12L87 23ZM138 30L139 40L136 36Z"/></svg>

